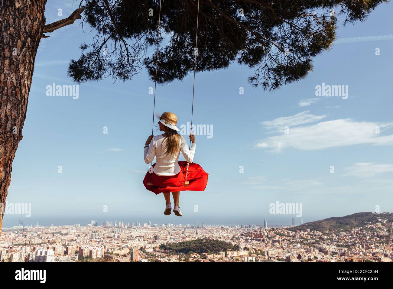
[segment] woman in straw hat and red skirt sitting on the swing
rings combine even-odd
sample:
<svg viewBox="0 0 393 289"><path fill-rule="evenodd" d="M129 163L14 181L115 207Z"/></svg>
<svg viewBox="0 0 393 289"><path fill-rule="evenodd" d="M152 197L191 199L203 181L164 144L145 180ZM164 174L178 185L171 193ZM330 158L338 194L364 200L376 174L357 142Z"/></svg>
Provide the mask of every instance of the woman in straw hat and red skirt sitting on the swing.
<svg viewBox="0 0 393 289"><path fill-rule="evenodd" d="M156 117L159 119L160 131L164 133L147 138L143 153L145 162L149 164L155 156L156 163L146 173L143 184L147 190L156 195L163 193L166 202L164 215L171 214L170 193L172 192L173 212L176 216L182 217L179 206L180 191L204 191L208 183L208 173L201 166L193 163L196 147L195 135L190 133L192 145L188 149L184 136L177 133L180 129L176 126L176 114L164 112L162 115L156 114ZM187 162L178 162L180 152Z"/></svg>

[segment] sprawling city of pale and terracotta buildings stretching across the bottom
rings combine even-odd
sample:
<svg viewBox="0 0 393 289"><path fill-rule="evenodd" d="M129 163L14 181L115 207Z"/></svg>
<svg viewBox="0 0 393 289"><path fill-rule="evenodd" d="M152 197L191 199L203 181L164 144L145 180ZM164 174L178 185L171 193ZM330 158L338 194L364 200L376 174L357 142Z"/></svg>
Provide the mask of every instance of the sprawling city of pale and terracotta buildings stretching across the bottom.
<svg viewBox="0 0 393 289"><path fill-rule="evenodd" d="M359 213L362 214L362 213ZM371 213L368 213L371 215ZM349 217L349 216L346 216ZM393 213L348 230L105 221L3 228L2 262L391 262ZM292 218L292 225L295 219ZM317 221L318 222L318 221ZM312 224L317 222L306 223ZM302 221L300 221L302 225Z"/></svg>

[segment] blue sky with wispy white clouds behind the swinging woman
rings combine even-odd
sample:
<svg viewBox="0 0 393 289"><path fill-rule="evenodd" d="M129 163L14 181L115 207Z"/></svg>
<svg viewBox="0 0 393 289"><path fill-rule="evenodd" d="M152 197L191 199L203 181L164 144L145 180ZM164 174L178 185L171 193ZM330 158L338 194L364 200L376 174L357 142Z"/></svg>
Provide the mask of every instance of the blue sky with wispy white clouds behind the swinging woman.
<svg viewBox="0 0 393 289"><path fill-rule="evenodd" d="M49 2L47 23L72 13L71 3ZM314 72L274 93L252 88L246 82L252 70L237 64L196 75L194 123L211 125L213 137L196 136L194 162L209 173L209 182L204 192L181 194L181 219L164 216L163 197L142 184L154 83L143 71L125 83L83 83L78 99L47 96L47 85L75 84L66 73L68 61L77 59L79 45L93 36L80 21L48 34L35 61L7 202L31 203L25 223L53 218L58 224L81 216L79 222L86 223L262 224L268 219L289 225L294 215L269 214L276 201L301 203L305 222L373 212L376 205L392 212L392 7L380 5L363 23L342 27L341 21L336 44L314 59ZM57 16L59 8L63 17ZM158 86L156 111L176 113L179 125L190 121L192 81L189 75ZM347 85L348 98L316 96L322 83ZM17 219L6 215L3 226L17 225Z"/></svg>

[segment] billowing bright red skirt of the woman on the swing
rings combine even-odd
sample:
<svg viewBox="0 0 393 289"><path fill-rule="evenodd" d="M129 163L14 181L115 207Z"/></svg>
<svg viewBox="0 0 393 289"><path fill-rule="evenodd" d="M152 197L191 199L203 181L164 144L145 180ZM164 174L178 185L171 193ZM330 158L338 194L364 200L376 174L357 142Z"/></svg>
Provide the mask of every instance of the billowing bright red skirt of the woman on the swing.
<svg viewBox="0 0 393 289"><path fill-rule="evenodd" d="M180 172L174 176L159 176L154 172L147 171L143 179L143 185L147 190L152 191L156 195L159 193L169 193L172 191L204 191L208 184L208 173L202 169L198 164L191 163L188 166L187 181L188 186L185 184L185 174L187 171L187 162L178 162ZM156 164L153 165L153 168ZM152 185L148 185L151 183Z"/></svg>

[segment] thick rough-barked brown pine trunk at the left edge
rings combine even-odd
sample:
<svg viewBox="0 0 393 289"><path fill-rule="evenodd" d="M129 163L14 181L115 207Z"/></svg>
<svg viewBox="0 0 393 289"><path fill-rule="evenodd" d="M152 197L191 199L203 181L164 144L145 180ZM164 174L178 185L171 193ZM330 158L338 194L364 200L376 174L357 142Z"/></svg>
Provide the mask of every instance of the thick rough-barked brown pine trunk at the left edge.
<svg viewBox="0 0 393 289"><path fill-rule="evenodd" d="M0 204L22 139L46 0L0 0ZM0 236L4 212L0 212Z"/></svg>

